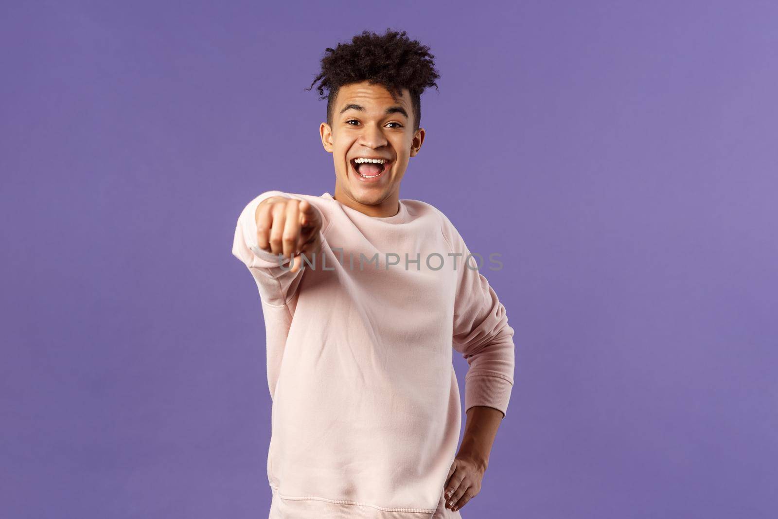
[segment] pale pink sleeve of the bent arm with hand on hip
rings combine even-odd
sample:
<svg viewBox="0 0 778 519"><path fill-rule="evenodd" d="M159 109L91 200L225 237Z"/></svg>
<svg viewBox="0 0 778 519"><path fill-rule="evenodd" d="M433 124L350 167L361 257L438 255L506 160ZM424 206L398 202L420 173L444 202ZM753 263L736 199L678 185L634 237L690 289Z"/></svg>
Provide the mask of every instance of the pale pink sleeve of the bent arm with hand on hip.
<svg viewBox="0 0 778 519"><path fill-rule="evenodd" d="M470 366L464 377L464 412L485 405L504 418L513 389L513 328L494 289L478 272L478 257L468 258L461 235L446 216L443 219L444 236L454 254L461 254L452 258L457 261L453 346Z"/></svg>

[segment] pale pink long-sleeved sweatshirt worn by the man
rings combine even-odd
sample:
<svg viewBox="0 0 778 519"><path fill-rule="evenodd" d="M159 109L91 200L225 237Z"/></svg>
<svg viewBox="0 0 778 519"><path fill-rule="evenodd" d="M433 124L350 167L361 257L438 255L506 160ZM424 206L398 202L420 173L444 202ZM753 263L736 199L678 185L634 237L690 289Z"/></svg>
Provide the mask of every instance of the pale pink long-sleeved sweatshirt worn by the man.
<svg viewBox="0 0 778 519"><path fill-rule="evenodd" d="M303 261L289 272L289 259L257 247L254 211L272 195L321 213L314 268ZM443 498L461 427L454 349L469 364L465 412L506 412L514 356L505 308L478 256L464 265L470 251L443 212L399 205L380 218L329 193L265 191L240 214L233 254L265 317L271 519L461 517Z"/></svg>

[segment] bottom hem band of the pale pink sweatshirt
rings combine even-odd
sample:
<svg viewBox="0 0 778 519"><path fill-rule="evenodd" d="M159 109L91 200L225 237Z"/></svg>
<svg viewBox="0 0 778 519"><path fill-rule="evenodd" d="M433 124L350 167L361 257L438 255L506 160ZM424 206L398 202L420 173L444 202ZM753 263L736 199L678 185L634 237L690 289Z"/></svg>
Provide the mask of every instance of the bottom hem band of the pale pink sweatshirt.
<svg viewBox="0 0 778 519"><path fill-rule="evenodd" d="M429 519L435 509L379 507L370 503L332 500L318 496L283 496L270 486L273 495L270 519L317 517L317 519Z"/></svg>

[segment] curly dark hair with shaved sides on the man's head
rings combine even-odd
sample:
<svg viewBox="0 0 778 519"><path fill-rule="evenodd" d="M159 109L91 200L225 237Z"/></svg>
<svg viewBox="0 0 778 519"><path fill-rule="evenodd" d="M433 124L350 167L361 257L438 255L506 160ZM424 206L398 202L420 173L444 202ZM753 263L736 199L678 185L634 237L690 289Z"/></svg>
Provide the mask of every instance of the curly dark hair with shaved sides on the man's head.
<svg viewBox="0 0 778 519"><path fill-rule="evenodd" d="M437 89L435 80L440 78L433 58L429 47L408 39L405 31L387 28L380 35L363 30L350 44L338 44L334 49L327 47L321 58L321 73L306 90L321 80L317 86L319 99L327 98L327 124L332 125L335 96L341 86L362 81L380 83L394 96L402 96L401 90L407 88L411 94L415 132L422 120L422 92L429 86ZM324 89L329 91L327 96Z"/></svg>

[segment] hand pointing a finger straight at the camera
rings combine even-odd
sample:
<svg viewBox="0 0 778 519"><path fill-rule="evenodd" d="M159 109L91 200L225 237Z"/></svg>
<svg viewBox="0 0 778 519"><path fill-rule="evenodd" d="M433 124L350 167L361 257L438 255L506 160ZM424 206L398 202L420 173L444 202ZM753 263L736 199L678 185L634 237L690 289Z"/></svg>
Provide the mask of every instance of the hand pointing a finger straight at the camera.
<svg viewBox="0 0 778 519"><path fill-rule="evenodd" d="M291 272L300 270L305 254L313 261L321 251L321 216L307 200L272 196L265 198L254 213L257 244L264 251L294 258Z"/></svg>

